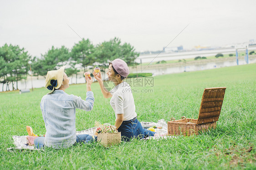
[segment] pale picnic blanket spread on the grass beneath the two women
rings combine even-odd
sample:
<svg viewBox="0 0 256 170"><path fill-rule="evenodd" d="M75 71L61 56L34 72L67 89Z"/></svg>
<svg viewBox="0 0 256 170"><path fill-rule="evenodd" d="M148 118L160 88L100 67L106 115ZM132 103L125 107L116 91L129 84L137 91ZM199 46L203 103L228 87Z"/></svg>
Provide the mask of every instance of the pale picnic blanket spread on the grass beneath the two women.
<svg viewBox="0 0 256 170"><path fill-rule="evenodd" d="M147 129L149 127L162 127L162 129L155 129L156 134L154 136L149 136L145 139L142 140L149 140L149 139L154 139L154 140L159 140L159 139L163 139L163 138L171 138L173 136L167 136L167 123L164 119L158 120L158 122L140 122L141 125L143 126L143 128ZM92 135L95 132L97 127L92 127L89 128L87 130L81 130L81 131L77 131L76 134L77 135L82 135L82 134L88 134L88 135ZM12 136L12 139L14 140L14 145L16 147L14 148L7 148L8 151L12 151L12 150L40 150L35 148L35 146L29 146L28 145L28 141L26 139L27 135L25 136Z"/></svg>

